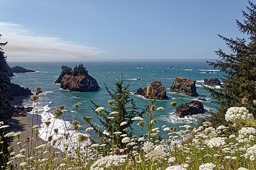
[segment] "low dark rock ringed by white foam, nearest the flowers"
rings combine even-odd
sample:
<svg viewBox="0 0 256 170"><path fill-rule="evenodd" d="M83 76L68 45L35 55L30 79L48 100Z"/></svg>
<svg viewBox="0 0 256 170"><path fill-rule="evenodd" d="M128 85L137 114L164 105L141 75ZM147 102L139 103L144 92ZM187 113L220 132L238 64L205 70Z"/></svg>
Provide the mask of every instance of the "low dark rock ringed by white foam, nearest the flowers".
<svg viewBox="0 0 256 170"><path fill-rule="evenodd" d="M175 113L179 117L204 113L204 105L201 101L191 101L189 103L179 105Z"/></svg>

